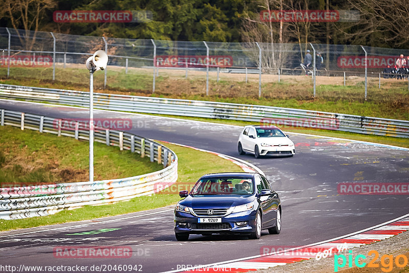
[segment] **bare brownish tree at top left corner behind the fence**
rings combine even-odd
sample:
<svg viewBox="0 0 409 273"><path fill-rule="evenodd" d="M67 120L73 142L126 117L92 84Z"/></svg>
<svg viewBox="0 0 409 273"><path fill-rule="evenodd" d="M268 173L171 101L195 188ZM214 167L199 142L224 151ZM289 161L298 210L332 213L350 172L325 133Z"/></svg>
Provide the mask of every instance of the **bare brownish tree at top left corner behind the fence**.
<svg viewBox="0 0 409 273"><path fill-rule="evenodd" d="M0 16L10 19L14 29L23 28L24 36L17 32L25 50L31 50L36 40L40 22L47 9L56 6L55 0L0 0ZM30 31L34 31L30 38Z"/></svg>

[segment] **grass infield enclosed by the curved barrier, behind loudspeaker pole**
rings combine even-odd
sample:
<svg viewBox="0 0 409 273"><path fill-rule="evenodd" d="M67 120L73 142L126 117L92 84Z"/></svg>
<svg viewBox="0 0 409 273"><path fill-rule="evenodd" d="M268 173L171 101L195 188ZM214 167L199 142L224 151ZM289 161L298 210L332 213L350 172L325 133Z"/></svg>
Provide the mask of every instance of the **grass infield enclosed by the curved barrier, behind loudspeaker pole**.
<svg viewBox="0 0 409 273"><path fill-rule="evenodd" d="M88 180L88 142L0 126L0 147L0 187ZM136 153L94 144L95 180L129 177L162 167Z"/></svg>

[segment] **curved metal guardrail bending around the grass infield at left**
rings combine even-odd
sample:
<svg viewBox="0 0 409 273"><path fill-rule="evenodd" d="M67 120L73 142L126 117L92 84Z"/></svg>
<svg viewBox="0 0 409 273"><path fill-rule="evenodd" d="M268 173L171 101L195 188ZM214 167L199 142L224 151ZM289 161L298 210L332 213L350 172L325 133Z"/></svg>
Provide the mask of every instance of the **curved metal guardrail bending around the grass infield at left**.
<svg viewBox="0 0 409 273"><path fill-rule="evenodd" d="M33 129L89 140L88 131L78 130L78 126L74 131L63 130L56 127L53 118L5 109L0 109L0 112L2 126L11 125L21 129ZM162 185L168 183L169 186L175 183L177 156L172 150L127 132L96 128L94 134L96 142L123 147L141 156L148 156L151 162L156 161L158 164L163 164L165 168L121 179L0 188L0 219L43 216L63 209L129 200L133 197L154 193L156 183Z"/></svg>

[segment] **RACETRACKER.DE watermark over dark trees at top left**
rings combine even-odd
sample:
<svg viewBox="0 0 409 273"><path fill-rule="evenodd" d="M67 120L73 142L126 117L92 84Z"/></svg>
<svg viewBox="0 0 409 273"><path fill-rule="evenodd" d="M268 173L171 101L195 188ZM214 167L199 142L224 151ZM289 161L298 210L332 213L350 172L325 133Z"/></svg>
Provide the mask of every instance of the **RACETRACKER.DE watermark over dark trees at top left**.
<svg viewBox="0 0 409 273"><path fill-rule="evenodd" d="M148 10L57 10L54 22L146 22L152 20Z"/></svg>

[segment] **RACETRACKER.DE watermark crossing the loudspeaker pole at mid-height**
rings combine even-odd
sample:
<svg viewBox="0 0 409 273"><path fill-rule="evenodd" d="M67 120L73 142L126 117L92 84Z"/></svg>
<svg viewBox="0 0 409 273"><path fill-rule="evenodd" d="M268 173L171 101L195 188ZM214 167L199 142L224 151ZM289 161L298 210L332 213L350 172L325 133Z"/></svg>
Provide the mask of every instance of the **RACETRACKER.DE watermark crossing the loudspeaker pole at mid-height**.
<svg viewBox="0 0 409 273"><path fill-rule="evenodd" d="M86 130L89 131L89 119L54 119L53 127L56 130L75 131ZM127 131L132 128L149 128L149 122L137 121L132 122L131 119L94 119L94 126L91 130L119 130Z"/></svg>

